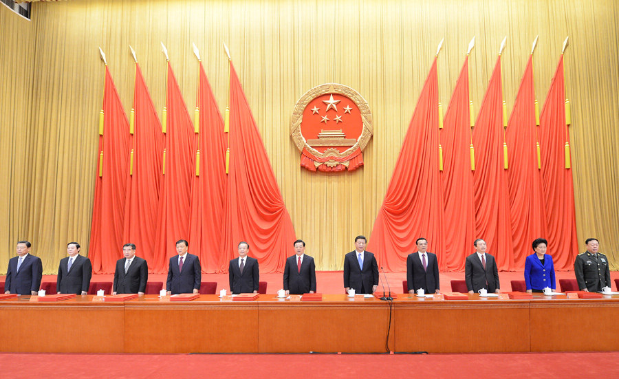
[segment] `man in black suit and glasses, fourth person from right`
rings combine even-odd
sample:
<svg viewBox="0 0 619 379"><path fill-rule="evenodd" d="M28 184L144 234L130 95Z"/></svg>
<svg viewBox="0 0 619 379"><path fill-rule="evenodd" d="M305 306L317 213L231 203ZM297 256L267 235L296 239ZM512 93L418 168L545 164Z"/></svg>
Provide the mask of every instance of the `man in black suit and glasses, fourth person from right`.
<svg viewBox="0 0 619 379"><path fill-rule="evenodd" d="M406 280L409 282L409 294L423 288L427 294L439 292L438 260L436 255L427 252L428 241L418 238L417 252L406 258Z"/></svg>

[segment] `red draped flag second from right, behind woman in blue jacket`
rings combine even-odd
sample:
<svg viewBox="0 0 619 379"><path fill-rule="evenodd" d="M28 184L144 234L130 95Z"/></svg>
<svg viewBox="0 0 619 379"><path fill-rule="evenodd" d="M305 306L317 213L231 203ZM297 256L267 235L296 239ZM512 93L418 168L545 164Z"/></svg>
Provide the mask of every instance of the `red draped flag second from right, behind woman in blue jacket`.
<svg viewBox="0 0 619 379"><path fill-rule="evenodd" d="M514 268L517 269L523 268L525 258L532 254L531 242L546 235L541 173L537 168L536 137L533 56L530 56L505 136L510 148L510 220Z"/></svg>

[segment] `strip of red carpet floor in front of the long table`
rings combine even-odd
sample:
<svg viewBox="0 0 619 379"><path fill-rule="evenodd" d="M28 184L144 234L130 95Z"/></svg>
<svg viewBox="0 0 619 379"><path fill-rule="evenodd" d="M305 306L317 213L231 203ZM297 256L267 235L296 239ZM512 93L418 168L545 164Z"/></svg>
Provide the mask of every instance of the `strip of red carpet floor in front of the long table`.
<svg viewBox="0 0 619 379"><path fill-rule="evenodd" d="M619 352L0 354L3 378L617 378Z"/></svg>

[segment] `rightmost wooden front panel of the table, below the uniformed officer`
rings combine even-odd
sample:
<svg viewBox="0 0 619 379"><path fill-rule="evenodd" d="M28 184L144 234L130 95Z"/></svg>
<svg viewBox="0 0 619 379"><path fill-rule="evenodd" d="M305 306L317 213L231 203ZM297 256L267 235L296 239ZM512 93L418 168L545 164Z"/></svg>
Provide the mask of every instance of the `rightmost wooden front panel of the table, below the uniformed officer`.
<svg viewBox="0 0 619 379"><path fill-rule="evenodd" d="M618 351L619 302L606 299L533 301L532 351Z"/></svg>

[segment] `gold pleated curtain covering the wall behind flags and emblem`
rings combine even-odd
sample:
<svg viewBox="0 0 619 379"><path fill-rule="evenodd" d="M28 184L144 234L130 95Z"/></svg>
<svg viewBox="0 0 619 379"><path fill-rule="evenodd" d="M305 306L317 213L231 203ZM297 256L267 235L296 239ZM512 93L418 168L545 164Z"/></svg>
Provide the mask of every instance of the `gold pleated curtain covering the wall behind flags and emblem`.
<svg viewBox="0 0 619 379"><path fill-rule="evenodd" d="M103 89L98 47L129 111L135 69L129 45L162 109L166 61L160 42L187 104L198 84L195 42L224 109L226 42L297 237L306 241L317 270L340 270L354 237L370 235L439 41L445 39L437 66L445 107L476 36L470 83L479 105L508 36L501 60L511 112L538 34L534 80L540 104L569 36L565 88L572 104L578 240L600 239L611 268L619 268L616 1L74 0L32 8L32 21L25 21L0 7L0 272L19 239L32 241L47 274L56 272L68 241L88 246ZM290 116L305 91L330 82L365 97L374 136L362 169L312 173L299 167Z"/></svg>

